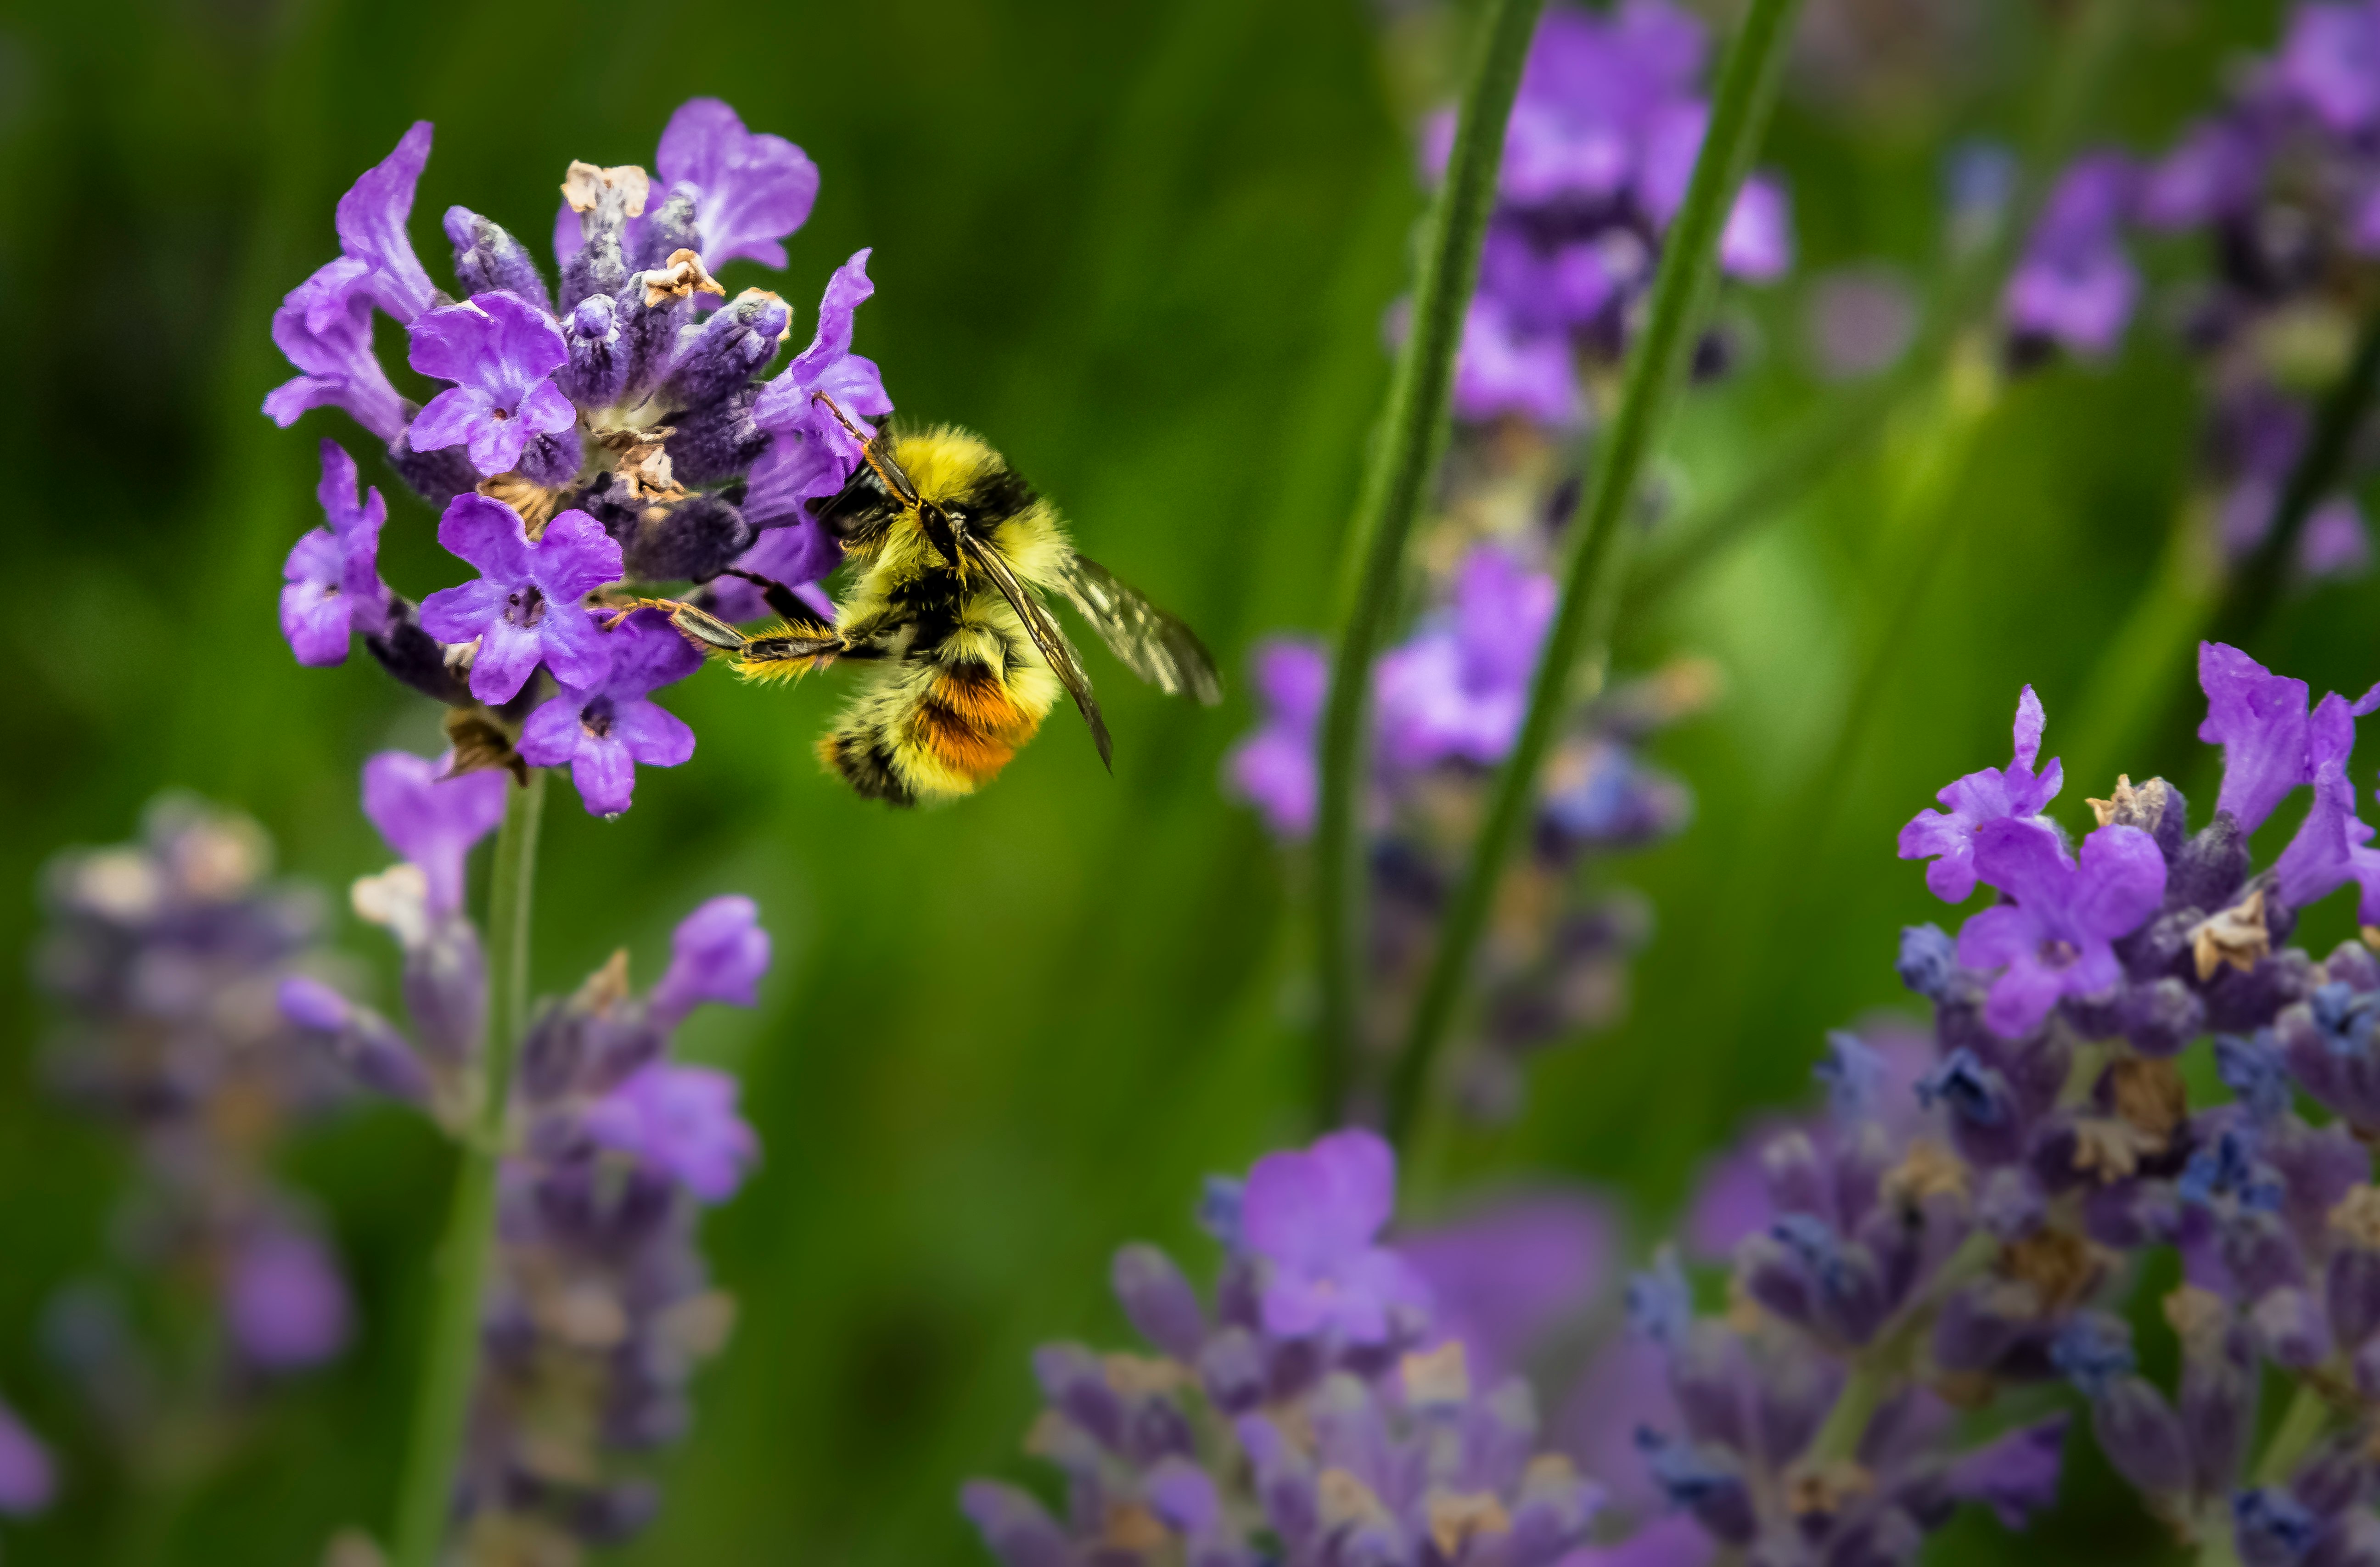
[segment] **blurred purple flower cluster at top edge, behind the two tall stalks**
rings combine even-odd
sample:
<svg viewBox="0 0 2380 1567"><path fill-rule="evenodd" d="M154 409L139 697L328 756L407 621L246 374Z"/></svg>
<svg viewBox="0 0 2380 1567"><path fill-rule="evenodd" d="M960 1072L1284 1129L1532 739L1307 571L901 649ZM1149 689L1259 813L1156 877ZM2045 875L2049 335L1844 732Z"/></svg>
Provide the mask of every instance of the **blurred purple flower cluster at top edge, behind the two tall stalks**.
<svg viewBox="0 0 2380 1567"><path fill-rule="evenodd" d="M1711 117L1706 55L1702 21L1668 0L1545 12L1504 131L1497 210L1464 317L1457 417L1557 429L1587 419L1578 362L1616 362L1633 307L1652 288L1661 236L1685 205ZM1454 114L1445 112L1423 138L1433 174L1452 143ZM1792 267L1785 188L1773 176L1737 193L1718 262L1749 281Z"/></svg>

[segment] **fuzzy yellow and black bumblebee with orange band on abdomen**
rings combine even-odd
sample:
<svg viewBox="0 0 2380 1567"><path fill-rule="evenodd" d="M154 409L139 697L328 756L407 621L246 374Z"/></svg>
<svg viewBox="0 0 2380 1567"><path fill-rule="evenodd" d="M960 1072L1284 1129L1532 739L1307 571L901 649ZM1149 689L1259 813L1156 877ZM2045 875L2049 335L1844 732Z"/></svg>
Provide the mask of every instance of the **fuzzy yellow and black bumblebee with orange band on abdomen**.
<svg viewBox="0 0 2380 1567"><path fill-rule="evenodd" d="M747 572L735 576L783 617L759 636L695 605L643 603L745 679L795 679L835 660L871 664L819 741L819 760L854 791L890 805L976 793L1033 738L1059 686L1111 767L1090 676L1045 593L1071 603L1140 679L1209 707L1221 700L1214 657L1190 626L1078 555L1057 510L981 438L950 426L869 438L831 398L819 400L866 457L843 493L812 502L859 567L835 624L816 624L783 583Z"/></svg>

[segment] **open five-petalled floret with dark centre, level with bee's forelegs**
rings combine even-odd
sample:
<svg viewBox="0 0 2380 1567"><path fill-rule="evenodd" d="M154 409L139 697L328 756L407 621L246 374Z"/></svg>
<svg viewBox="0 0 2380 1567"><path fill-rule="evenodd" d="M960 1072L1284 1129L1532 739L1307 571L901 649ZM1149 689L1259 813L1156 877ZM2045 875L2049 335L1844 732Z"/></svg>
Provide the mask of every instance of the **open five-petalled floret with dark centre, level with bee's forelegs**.
<svg viewBox="0 0 2380 1567"><path fill-rule="evenodd" d="M438 543L478 567L478 581L421 600L421 629L443 643L478 641L471 695L509 703L538 662L588 691L612 667L612 648L581 600L619 581L619 543L585 512L562 512L531 543L502 500L464 493L438 519Z"/></svg>

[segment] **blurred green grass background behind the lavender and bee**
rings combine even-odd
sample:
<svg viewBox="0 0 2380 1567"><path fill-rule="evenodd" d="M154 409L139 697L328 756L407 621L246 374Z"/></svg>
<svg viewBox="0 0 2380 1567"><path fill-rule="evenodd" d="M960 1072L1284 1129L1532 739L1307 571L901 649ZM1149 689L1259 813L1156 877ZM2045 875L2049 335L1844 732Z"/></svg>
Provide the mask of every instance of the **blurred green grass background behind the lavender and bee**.
<svg viewBox="0 0 2380 1567"><path fill-rule="evenodd" d="M1892 33L1894 12L1964 19L1925 52L1902 48L1923 29ZM1809 279L1878 260L1923 279L1944 148L2021 136L2056 19L2016 0L1814 14L1883 17L1892 48L1859 90L1804 60L1778 114L1764 162L1790 179L1802 260L1728 302L1745 362L1690 395L1666 457L1687 502L1835 395L1804 350ZM2271 5L2142 5L2092 133L2166 145L2273 29ZM643 162L681 100L731 100L823 171L771 283L802 307L797 333L828 269L873 245L859 348L902 410L983 429L1088 552L1238 676L1254 636L1328 624L1383 393L1380 317L1421 198L1416 71L1380 38L1361 0L159 0L0 19L0 355L24 393L0 622L0 888L17 888L0 895L0 1391L67 1467L52 1517L0 1529L10 1560L300 1565L388 1512L443 1150L386 1112L295 1148L357 1279L359 1341L293 1384L219 1481L136 1505L36 1353L48 1291L105 1253L124 1162L40 1098L19 957L40 862L129 836L167 784L255 812L286 869L333 888L386 862L357 769L383 745L433 748L436 714L362 657L298 669L276 633L314 438L367 455L390 493L390 581L419 595L459 569L343 417L283 433L257 414L288 374L267 317L333 252L355 174L407 121L438 124L414 233L445 276L450 202L543 236L571 157ZM1723 700L1656 745L1699 817L1614 867L1661 922L1630 1019L1547 1057L1523 1119L1461 1145L1466 1179L1602 1184L1635 1200L1642 1238L1749 1107L1802 1095L1825 1026L1899 1000L1894 931L1944 910L1892 860L1894 829L2004 760L2023 681L2052 753L2073 755L2061 717L2152 576L2194 419L2187 367L2149 324L2111 364L2013 386L1916 531L1887 500L1902 431L1623 626L1623 667L1704 653L1726 672ZM2375 610L2373 581L2323 588L2256 653L2361 691L2380 674ZM1871 669L1875 700L1847 729ZM985 1560L952 1496L971 1472L1026 1472L1028 1348L1114 1341L1111 1248L1154 1238L1204 1265L1197 1176L1307 1134L1299 864L1216 791L1245 698L1200 712L1107 660L1095 676L1114 779L1052 722L985 795L888 814L812 762L833 679L707 674L671 698L697 757L645 772L626 819L555 795L540 991L621 941L650 979L678 914L728 888L759 898L781 953L759 1012L688 1029L693 1055L743 1072L766 1167L709 1222L743 1322L666 1460L662 1519L624 1560ZM2154 748L2121 764L2194 776ZM2106 784L2071 779L2056 814L2085 822ZM381 955L345 914L343 938ZM2035 1560L2161 1560L2090 1460L2073 1474ZM1940 1550L2002 1546L1971 1522Z"/></svg>

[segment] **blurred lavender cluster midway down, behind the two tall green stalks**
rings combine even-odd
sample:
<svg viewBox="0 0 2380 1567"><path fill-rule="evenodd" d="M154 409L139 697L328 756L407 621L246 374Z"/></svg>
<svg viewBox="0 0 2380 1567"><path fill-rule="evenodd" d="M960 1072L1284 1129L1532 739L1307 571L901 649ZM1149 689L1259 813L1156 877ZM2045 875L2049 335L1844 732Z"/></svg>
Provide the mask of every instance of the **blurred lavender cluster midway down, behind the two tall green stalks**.
<svg viewBox="0 0 2380 1567"><path fill-rule="evenodd" d="M1464 862L1490 769L1518 738L1537 645L1554 614L1554 581L1507 543L1476 543L1445 583L1445 603L1373 664L1373 1017L1388 1048L1428 962L1438 919ZM1328 664L1311 643L1257 648L1259 729L1226 760L1226 788L1276 836L1314 826L1316 729ZM1521 1060L1623 1005L1626 960L1649 914L1623 891L1590 893L1590 855L1656 843L1692 814L1680 784L1640 757L1645 738L1702 705L1709 676L1680 664L1626 683L1583 710L1559 741L1537 803L1528 879L1540 919L1495 931L1478 1050L1466 1053L1464 1103L1483 1117L1518 1107Z"/></svg>

